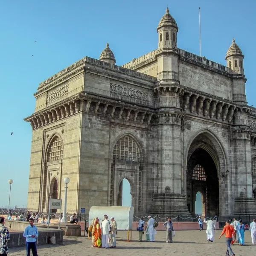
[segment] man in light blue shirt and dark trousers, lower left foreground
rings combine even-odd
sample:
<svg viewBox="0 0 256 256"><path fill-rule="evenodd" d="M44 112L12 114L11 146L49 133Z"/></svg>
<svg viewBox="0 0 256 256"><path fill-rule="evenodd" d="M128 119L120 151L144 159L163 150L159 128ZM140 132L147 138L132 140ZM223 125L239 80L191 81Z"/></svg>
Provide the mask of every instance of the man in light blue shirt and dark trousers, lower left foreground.
<svg viewBox="0 0 256 256"><path fill-rule="evenodd" d="M26 256L30 256L32 250L33 256L38 256L36 250L36 239L38 237L37 227L34 225L34 219L29 218L29 225L25 228L23 236L26 238Z"/></svg>

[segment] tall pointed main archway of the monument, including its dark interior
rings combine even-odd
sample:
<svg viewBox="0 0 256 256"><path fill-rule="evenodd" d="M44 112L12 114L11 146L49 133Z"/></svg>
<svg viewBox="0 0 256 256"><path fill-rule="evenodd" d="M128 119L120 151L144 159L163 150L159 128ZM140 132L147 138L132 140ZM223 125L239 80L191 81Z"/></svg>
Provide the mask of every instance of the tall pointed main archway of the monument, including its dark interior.
<svg viewBox="0 0 256 256"><path fill-rule="evenodd" d="M224 198L229 187L227 157L220 140L212 131L202 130L195 134L186 149L186 195L187 206L195 215L195 196L203 195L202 215L228 215L230 199Z"/></svg>

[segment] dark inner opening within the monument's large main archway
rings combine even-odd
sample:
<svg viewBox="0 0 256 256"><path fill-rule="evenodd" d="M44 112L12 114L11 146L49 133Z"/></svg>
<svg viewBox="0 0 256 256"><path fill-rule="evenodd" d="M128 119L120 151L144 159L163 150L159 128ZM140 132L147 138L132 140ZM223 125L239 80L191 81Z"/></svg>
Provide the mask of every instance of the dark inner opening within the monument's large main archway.
<svg viewBox="0 0 256 256"><path fill-rule="evenodd" d="M195 216L196 194L200 191L202 215L205 217L219 215L219 183L217 168L211 155L204 148L196 148L190 154L187 165L187 206Z"/></svg>

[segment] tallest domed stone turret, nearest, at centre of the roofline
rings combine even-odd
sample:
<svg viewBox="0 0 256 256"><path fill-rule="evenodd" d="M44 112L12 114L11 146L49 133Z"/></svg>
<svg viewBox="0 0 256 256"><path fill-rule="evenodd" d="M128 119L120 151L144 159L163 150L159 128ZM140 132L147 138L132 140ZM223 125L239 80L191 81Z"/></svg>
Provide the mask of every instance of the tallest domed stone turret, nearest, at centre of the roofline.
<svg viewBox="0 0 256 256"><path fill-rule="evenodd" d="M167 7L157 27L157 80L160 83L179 84L177 32L177 23Z"/></svg>

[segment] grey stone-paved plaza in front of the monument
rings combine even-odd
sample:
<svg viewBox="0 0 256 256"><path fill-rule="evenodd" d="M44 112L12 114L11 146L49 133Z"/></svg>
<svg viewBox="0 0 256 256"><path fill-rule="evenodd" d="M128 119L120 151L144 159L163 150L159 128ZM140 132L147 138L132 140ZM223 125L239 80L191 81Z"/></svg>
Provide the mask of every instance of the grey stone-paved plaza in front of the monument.
<svg viewBox="0 0 256 256"><path fill-rule="evenodd" d="M221 240L218 237L221 231L215 234L215 241L210 243L206 241L205 231L176 231L173 244L166 244L165 232L158 231L155 237L156 241L138 242L138 232L133 231L132 242L123 241L127 239L127 232L119 231L117 234L117 247L112 249L102 249L91 247L91 240L87 237L65 237L63 244L43 245L38 247L39 256L134 256L134 255L169 255L175 253L175 256L224 256L226 253L225 238ZM145 239L145 236L143 236ZM24 256L26 251L24 247L10 248L8 256ZM256 246L251 244L250 231L245 232L245 246L235 244L232 249L236 256L256 256ZM31 253L32 255L32 253Z"/></svg>

